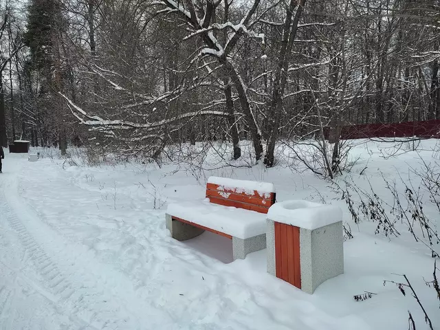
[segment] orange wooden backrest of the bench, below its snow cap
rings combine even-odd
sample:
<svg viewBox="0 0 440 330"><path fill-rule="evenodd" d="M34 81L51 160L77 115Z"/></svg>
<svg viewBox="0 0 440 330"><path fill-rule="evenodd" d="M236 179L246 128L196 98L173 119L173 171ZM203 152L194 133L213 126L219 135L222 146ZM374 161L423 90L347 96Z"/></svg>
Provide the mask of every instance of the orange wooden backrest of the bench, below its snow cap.
<svg viewBox="0 0 440 330"><path fill-rule="evenodd" d="M260 195L258 191L244 192L240 188L225 188L218 184L206 184L206 197L211 203L223 206L234 206L260 213L267 213L275 203L275 192Z"/></svg>

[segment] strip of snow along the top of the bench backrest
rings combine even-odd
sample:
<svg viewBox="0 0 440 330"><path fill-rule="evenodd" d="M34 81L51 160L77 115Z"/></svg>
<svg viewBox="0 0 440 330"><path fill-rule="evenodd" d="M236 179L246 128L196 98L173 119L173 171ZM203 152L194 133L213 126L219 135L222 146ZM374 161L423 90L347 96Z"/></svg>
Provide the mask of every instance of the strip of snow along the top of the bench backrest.
<svg viewBox="0 0 440 330"><path fill-rule="evenodd" d="M229 179L227 177L209 177L208 184L219 185L218 190L228 190L237 194L254 195L258 192L261 197L270 198L270 193L275 192L274 184L248 180ZM225 197L228 198L228 197Z"/></svg>

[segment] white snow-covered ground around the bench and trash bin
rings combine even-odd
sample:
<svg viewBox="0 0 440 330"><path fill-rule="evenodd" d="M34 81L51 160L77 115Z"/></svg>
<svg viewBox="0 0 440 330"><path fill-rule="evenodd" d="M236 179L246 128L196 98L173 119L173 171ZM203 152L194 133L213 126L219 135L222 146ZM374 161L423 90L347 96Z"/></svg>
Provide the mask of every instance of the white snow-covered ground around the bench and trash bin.
<svg viewBox="0 0 440 330"><path fill-rule="evenodd" d="M408 177L420 157L438 157L436 144L427 140L419 151L401 153L390 144L360 143L351 151L360 159L338 182L353 179L368 187L369 179L387 198L382 175ZM382 157L393 151L394 157ZM408 329L408 310L417 329L428 329L410 294L383 285L403 281L395 274L408 276L440 327L439 300L423 281L432 280L433 259L405 225L391 239L375 235L376 224L366 219L355 225L334 186L307 171L219 168L199 177L184 164L87 167L6 153L0 175L0 329L400 330ZM324 199L340 206L354 236L344 243L344 274L309 295L266 273L265 250L231 262L230 241L221 236L171 239L167 203L202 199L209 175L273 183L278 201ZM426 212L438 218L433 206L426 205ZM376 295L353 300L365 291Z"/></svg>

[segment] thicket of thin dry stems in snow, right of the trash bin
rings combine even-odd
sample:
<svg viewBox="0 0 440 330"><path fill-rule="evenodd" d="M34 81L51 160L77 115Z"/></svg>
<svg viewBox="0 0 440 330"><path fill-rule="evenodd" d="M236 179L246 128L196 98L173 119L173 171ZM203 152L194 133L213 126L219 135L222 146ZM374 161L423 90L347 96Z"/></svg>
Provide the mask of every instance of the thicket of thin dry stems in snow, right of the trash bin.
<svg viewBox="0 0 440 330"><path fill-rule="evenodd" d="M423 173L412 172L408 179L400 177L400 182L390 181L382 175L388 195L380 196L371 183L369 189L361 188L354 181L345 181L345 188L338 184L337 190L347 203L351 217L355 223L369 219L377 224L375 234L384 234L391 239L399 237L397 222L406 224L408 232L415 241L422 243L434 258L440 256L440 236L437 219L440 217L440 168L426 165ZM415 188L413 182L419 181ZM423 192L428 192L429 199ZM358 198L353 198L353 195ZM424 205L430 203L437 209L437 214L426 212ZM357 207L356 207L357 205Z"/></svg>

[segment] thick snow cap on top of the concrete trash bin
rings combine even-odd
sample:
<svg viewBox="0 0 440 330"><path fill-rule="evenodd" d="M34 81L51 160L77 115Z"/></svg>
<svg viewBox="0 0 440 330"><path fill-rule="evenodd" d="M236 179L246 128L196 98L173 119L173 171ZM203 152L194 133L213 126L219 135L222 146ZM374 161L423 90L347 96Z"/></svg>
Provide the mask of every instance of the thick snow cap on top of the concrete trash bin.
<svg viewBox="0 0 440 330"><path fill-rule="evenodd" d="M342 210L338 206L290 200L274 203L267 212L267 218L287 225L315 230L342 221Z"/></svg>

